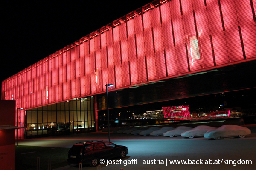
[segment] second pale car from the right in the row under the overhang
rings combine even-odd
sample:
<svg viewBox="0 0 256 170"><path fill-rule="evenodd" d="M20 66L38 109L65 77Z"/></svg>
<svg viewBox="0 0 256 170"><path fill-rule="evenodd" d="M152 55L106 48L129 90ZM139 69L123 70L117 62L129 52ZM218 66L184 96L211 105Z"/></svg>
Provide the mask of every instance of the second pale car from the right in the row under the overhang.
<svg viewBox="0 0 256 170"><path fill-rule="evenodd" d="M205 125L201 125L201 126L197 126L191 130L185 131L183 133L181 133L182 137L189 137L189 138L194 138L195 136L204 136L204 133L206 133L207 131L210 130L215 130L216 127L210 127L210 126L205 126Z"/></svg>

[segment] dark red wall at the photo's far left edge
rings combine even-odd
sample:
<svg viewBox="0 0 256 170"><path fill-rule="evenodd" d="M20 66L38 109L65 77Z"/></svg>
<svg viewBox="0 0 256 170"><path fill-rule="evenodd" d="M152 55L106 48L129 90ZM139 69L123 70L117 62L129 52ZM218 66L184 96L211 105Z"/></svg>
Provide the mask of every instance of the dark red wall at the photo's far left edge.
<svg viewBox="0 0 256 170"><path fill-rule="evenodd" d="M0 126L15 126L15 101L0 100ZM15 130L0 130L0 169L15 170Z"/></svg>

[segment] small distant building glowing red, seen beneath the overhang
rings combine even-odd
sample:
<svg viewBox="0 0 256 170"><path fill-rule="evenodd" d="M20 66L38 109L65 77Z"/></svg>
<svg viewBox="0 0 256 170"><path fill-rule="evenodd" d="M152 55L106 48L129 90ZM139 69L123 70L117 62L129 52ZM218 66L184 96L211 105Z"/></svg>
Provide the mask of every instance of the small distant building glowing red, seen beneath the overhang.
<svg viewBox="0 0 256 170"><path fill-rule="evenodd" d="M163 116L172 120L191 119L189 105L163 107Z"/></svg>

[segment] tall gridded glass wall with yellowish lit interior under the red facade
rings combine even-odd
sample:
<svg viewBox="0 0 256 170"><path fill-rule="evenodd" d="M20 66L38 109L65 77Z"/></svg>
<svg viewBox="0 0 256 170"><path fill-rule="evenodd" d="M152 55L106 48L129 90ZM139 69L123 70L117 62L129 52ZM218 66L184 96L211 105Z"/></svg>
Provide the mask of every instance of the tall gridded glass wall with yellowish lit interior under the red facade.
<svg viewBox="0 0 256 170"><path fill-rule="evenodd" d="M69 134L94 128L93 97L33 108L26 113L27 136Z"/></svg>

